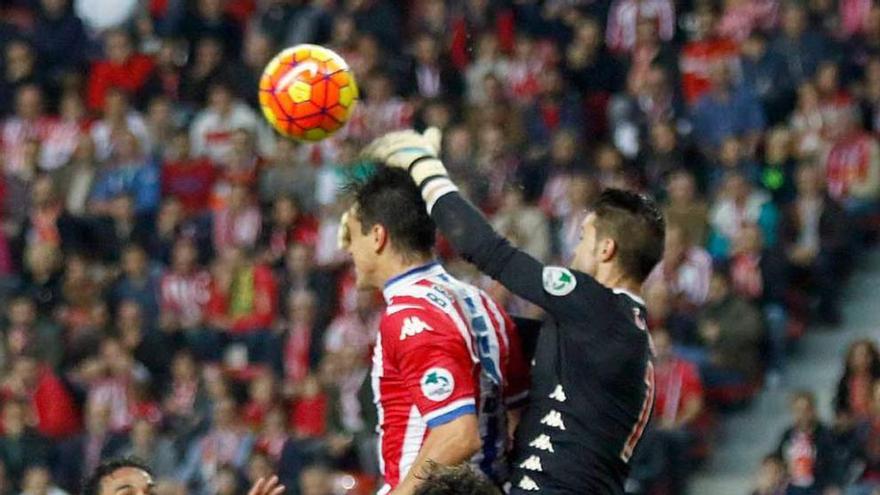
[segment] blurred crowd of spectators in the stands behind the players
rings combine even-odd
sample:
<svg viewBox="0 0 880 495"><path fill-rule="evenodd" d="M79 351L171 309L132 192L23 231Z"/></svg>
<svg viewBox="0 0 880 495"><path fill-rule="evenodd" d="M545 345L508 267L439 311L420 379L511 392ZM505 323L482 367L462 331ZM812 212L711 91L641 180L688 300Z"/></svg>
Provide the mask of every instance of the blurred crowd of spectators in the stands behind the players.
<svg viewBox="0 0 880 495"><path fill-rule="evenodd" d="M265 64L303 42L361 89L316 144L257 103ZM719 413L784 384L810 325L841 323L880 227L873 0L0 0L0 44L0 494L76 492L124 454L159 493L269 472L369 493L382 303L336 230L340 186L370 172L358 150L389 130L443 129L467 196L547 263L602 188L662 202L631 493L684 492ZM878 370L855 344L833 429L795 397L756 493L873 493Z"/></svg>

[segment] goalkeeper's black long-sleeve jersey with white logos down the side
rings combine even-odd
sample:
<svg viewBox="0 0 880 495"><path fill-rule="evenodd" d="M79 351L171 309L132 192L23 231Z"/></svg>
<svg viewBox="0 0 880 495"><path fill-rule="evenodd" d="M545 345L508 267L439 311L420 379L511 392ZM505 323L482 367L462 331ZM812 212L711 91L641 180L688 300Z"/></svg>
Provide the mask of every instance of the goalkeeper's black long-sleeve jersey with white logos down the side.
<svg viewBox="0 0 880 495"><path fill-rule="evenodd" d="M466 260L547 314L510 493L622 494L654 397L644 302L584 273L543 266L456 192L437 200L431 216Z"/></svg>

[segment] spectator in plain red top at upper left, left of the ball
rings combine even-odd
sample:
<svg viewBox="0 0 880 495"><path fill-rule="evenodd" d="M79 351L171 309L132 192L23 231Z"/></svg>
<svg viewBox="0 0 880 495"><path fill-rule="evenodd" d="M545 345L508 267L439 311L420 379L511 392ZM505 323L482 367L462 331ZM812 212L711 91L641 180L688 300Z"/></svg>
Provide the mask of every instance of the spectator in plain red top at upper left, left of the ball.
<svg viewBox="0 0 880 495"><path fill-rule="evenodd" d="M130 94L138 93L153 71L153 60L134 51L131 36L122 30L104 35L104 55L92 65L89 76L87 103L90 110L104 108L104 96L113 87Z"/></svg>

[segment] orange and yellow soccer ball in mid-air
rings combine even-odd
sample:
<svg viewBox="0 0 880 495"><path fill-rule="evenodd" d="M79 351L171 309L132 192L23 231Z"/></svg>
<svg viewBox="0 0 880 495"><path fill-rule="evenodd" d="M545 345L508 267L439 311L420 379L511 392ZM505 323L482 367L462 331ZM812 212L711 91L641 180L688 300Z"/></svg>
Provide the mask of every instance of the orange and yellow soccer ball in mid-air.
<svg viewBox="0 0 880 495"><path fill-rule="evenodd" d="M260 78L260 107L279 133L319 141L338 131L358 98L354 74L336 52L296 45L272 59Z"/></svg>

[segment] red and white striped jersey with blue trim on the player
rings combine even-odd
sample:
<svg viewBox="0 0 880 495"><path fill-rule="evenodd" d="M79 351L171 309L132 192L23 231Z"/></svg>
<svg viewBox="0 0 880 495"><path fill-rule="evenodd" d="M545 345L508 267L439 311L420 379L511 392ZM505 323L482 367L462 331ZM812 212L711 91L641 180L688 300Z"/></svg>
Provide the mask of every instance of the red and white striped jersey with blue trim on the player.
<svg viewBox="0 0 880 495"><path fill-rule="evenodd" d="M389 280L373 352L380 467L388 493L432 428L477 414L483 448L472 462L506 475L508 407L525 399L528 366L503 309L433 262Z"/></svg>

